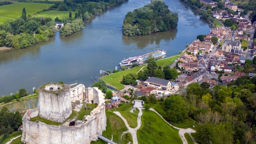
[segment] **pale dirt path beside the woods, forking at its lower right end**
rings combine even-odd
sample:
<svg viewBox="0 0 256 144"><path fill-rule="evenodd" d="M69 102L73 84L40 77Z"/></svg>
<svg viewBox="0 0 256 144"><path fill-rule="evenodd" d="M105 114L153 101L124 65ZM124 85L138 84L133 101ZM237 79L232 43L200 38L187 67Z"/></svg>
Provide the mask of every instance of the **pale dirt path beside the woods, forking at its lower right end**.
<svg viewBox="0 0 256 144"><path fill-rule="evenodd" d="M188 144L188 143L187 143L187 140L186 140L186 138L185 138L185 133L188 133L188 134L190 134L190 133L195 133L195 132L196 132L195 130L193 130L193 129L191 129L191 128L187 128L187 129L177 128L177 127L171 125L169 122L167 122L167 121L166 121L157 111L155 111L153 108L150 108L150 110L153 111L153 112L155 112L155 113L157 113L157 114L158 114L167 124L169 124L171 127L175 128L175 129L178 129L178 130L179 130L179 135L180 135L180 137L181 137L181 140L182 140L183 144ZM193 138L192 138L192 139L193 139Z"/></svg>

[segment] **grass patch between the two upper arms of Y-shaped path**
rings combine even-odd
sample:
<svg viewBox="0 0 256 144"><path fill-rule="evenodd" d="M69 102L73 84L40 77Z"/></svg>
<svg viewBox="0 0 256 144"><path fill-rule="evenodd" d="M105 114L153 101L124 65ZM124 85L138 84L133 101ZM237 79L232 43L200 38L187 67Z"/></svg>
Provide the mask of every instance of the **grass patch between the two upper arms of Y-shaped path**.
<svg viewBox="0 0 256 144"><path fill-rule="evenodd" d="M131 128L136 128L138 123L137 123L137 118L138 118L138 113L139 110L137 109L135 113L130 113L130 110L133 108L133 104L130 102L128 104L124 104L116 109L113 109L114 111L118 111L121 113L121 115L127 120L128 125Z"/></svg>

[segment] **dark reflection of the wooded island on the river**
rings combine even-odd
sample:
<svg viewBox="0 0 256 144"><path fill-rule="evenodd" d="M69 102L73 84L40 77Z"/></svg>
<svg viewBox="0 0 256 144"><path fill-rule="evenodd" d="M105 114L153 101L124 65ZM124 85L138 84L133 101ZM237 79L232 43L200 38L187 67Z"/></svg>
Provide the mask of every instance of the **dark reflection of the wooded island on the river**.
<svg viewBox="0 0 256 144"><path fill-rule="evenodd" d="M153 44L160 45L162 40L165 40L166 42L174 40L177 32L177 29L170 29L163 32L155 32L151 35L140 35L133 37L122 35L122 40L125 45L136 44L139 48L144 48Z"/></svg>

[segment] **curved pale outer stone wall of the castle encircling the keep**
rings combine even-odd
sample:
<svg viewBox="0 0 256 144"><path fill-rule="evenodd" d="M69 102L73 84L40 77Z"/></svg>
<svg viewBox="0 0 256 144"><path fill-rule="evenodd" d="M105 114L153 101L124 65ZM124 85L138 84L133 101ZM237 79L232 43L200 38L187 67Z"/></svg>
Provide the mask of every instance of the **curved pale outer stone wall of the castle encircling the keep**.
<svg viewBox="0 0 256 144"><path fill-rule="evenodd" d="M89 89L89 88L88 88ZM94 90L93 90L94 89ZM98 106L85 116L86 121L75 126L53 126L42 122L32 122L31 117L39 113L39 106L28 111L22 118L23 132L22 141L27 144L90 144L97 140L97 134L106 130L106 114L103 93L97 88L90 88L90 99L94 99ZM93 98L95 97L95 98Z"/></svg>

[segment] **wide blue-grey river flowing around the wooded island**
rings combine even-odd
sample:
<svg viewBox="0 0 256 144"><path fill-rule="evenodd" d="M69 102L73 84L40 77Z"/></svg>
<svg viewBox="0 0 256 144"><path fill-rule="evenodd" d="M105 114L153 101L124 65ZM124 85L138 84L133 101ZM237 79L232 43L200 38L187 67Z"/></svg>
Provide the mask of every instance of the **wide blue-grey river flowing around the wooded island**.
<svg viewBox="0 0 256 144"><path fill-rule="evenodd" d="M129 0L92 20L72 36L57 33L48 42L29 48L0 53L0 96L20 88L32 92L48 82L64 81L92 85L91 77L100 70L113 70L124 58L163 49L166 57L176 55L210 27L179 0L164 0L179 15L177 29L151 35L122 35L122 22L128 11L143 7L149 0Z"/></svg>

